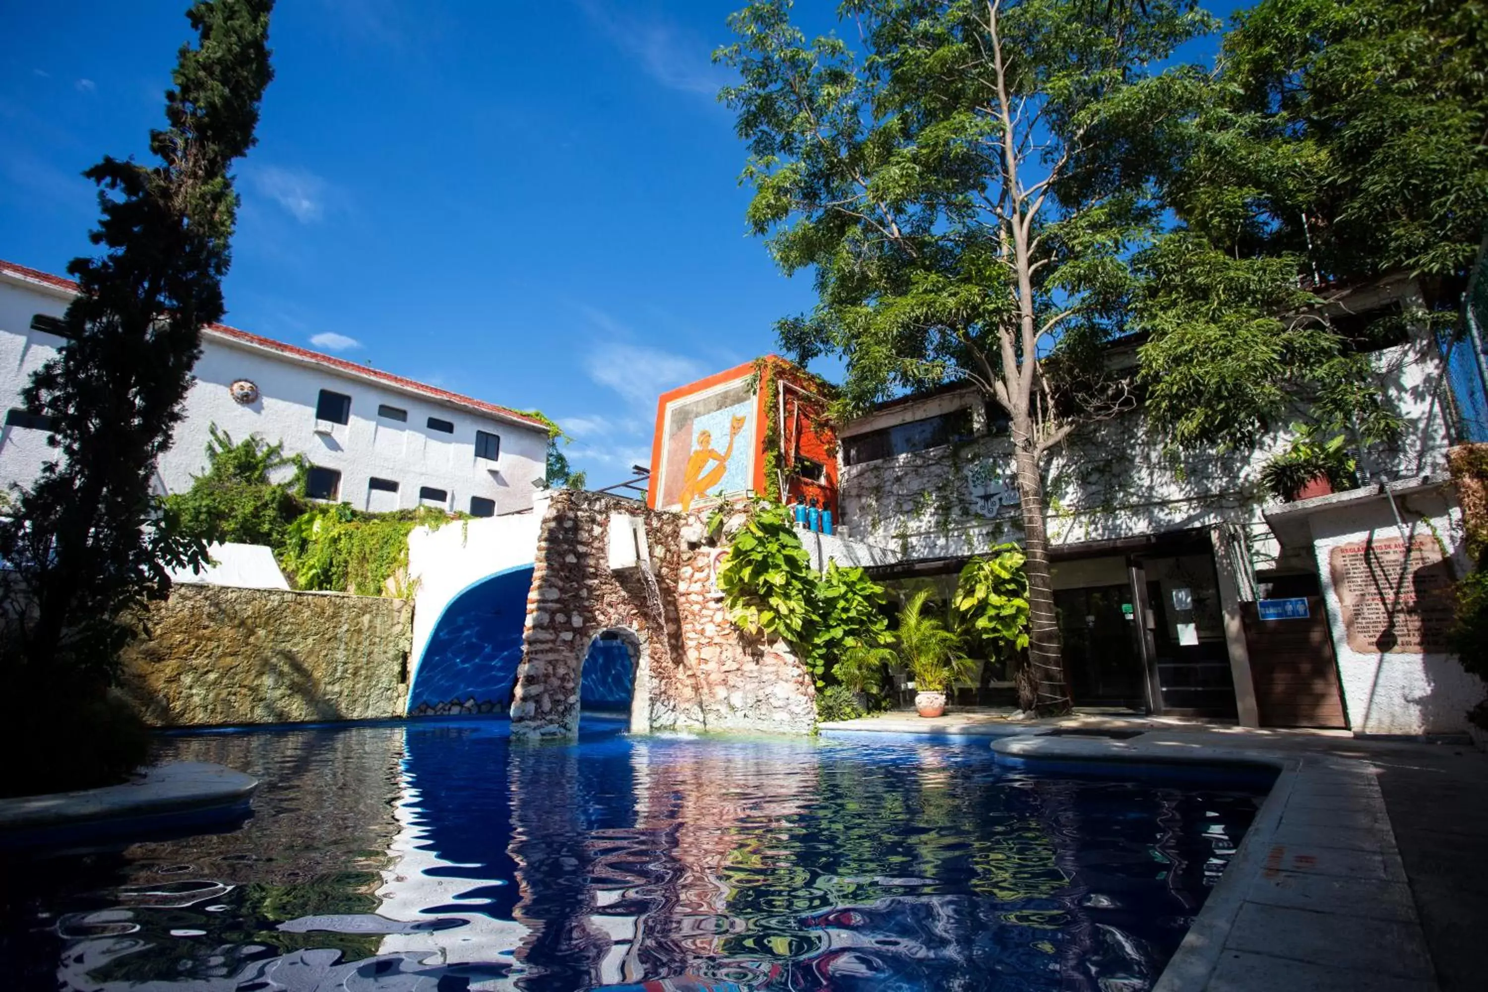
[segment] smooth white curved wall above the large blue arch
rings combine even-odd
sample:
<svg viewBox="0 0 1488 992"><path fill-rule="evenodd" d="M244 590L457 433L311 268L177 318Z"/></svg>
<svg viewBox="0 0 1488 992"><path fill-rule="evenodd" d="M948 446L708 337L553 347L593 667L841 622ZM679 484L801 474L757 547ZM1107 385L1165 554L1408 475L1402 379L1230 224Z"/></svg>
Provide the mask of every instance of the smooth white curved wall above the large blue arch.
<svg viewBox="0 0 1488 992"><path fill-rule="evenodd" d="M445 607L476 582L531 565L546 512L548 497L540 497L531 513L460 521L436 531L418 526L408 535L408 576L415 583L409 689L417 681L424 648Z"/></svg>

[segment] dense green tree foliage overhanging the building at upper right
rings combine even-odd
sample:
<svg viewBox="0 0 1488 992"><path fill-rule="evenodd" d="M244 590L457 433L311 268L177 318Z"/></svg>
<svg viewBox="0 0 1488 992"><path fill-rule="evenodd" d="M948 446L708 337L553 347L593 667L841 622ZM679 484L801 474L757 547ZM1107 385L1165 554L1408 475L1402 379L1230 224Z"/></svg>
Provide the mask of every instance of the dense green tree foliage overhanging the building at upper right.
<svg viewBox="0 0 1488 992"><path fill-rule="evenodd" d="M1248 449L1299 408L1318 436L1396 436L1379 370L1326 303L1409 272L1439 312L1385 320L1451 320L1488 220L1485 15L1481 0L1235 15L1213 85L1170 132L1180 225L1141 257L1141 378L1174 448Z"/></svg>

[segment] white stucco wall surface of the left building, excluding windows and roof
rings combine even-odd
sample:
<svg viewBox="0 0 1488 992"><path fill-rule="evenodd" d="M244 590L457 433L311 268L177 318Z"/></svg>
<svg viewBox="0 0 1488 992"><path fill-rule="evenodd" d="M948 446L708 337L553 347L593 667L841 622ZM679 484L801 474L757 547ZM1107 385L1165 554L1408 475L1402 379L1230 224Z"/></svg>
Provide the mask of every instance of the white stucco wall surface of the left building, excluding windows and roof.
<svg viewBox="0 0 1488 992"><path fill-rule="evenodd" d="M0 403L6 409L19 405L19 391L30 375L62 344L60 338L30 330L31 315L61 317L68 299L67 292L0 274ZM186 397L186 418L158 466L158 483L167 492L190 488L192 476L205 470L213 424L234 440L259 434L284 442L286 452L302 454L314 466L338 470L339 500L360 510L418 506L420 489L430 486L446 492L443 506L449 510L469 512L470 497L485 497L496 503L497 513L515 513L533 506L546 473L548 433L542 427L223 333L204 332L193 372L196 381ZM237 379L256 384L259 399L250 405L234 400L228 387ZM350 422L335 425L329 436L315 433L320 390L351 397ZM382 403L408 410L408 419L379 418ZM452 422L454 433L429 430L430 416ZM478 430L501 439L494 464L475 457ZM30 483L51 457L45 431L6 427L0 436L0 483ZM372 477L399 483L396 503L390 492L376 492L384 501L369 503Z"/></svg>

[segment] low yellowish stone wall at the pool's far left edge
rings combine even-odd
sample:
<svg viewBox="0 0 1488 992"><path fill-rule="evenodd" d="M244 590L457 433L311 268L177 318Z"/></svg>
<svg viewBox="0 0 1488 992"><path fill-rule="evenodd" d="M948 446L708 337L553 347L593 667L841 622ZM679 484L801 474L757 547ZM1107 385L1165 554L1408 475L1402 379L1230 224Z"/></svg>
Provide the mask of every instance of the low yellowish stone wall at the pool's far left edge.
<svg viewBox="0 0 1488 992"><path fill-rule="evenodd" d="M403 715L412 604L187 586L153 604L122 690L156 726Z"/></svg>

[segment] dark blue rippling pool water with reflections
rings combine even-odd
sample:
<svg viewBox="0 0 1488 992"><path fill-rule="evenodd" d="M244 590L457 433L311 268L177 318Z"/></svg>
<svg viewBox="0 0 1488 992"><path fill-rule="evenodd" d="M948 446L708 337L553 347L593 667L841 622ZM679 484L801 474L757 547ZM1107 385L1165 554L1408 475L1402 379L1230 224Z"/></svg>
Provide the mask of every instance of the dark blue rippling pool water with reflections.
<svg viewBox="0 0 1488 992"><path fill-rule="evenodd" d="M985 741L619 727L165 738L262 776L253 818L0 860L3 985L1137 992L1266 788L1007 770Z"/></svg>

